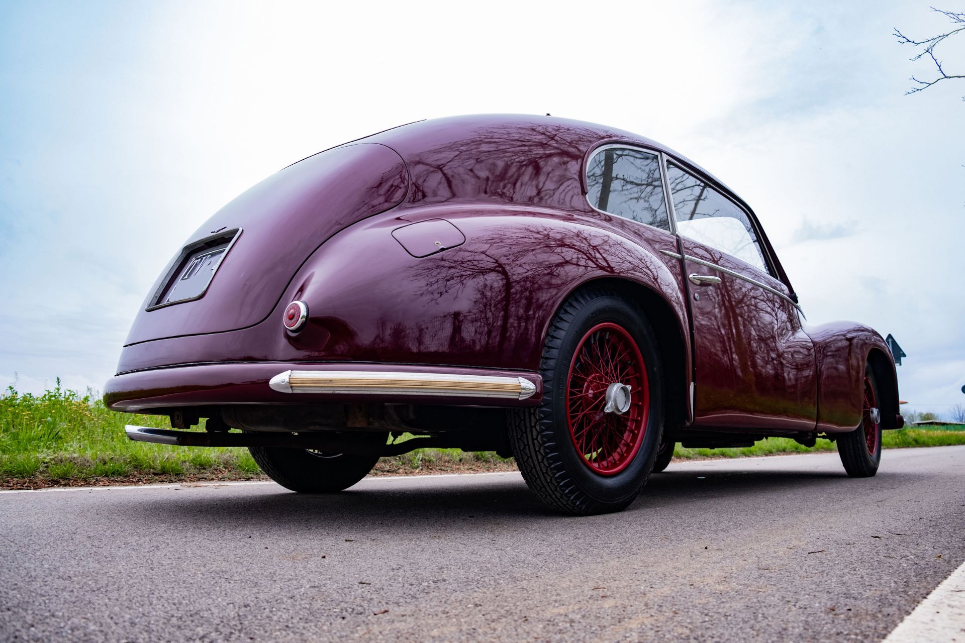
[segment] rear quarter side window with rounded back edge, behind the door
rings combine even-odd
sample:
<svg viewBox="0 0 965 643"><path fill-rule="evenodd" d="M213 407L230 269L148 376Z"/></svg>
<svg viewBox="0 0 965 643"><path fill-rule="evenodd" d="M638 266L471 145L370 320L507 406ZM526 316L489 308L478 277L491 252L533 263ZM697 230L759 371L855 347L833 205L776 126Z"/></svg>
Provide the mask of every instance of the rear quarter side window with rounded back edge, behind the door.
<svg viewBox="0 0 965 643"><path fill-rule="evenodd" d="M587 166L587 199L597 210L670 230L656 154L606 147Z"/></svg>

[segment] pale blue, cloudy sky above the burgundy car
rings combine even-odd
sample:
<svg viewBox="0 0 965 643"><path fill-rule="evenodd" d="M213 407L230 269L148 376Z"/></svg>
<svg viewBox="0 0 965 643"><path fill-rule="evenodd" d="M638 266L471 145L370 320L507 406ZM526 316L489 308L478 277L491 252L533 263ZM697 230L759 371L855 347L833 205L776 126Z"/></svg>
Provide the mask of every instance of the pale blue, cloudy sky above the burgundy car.
<svg viewBox="0 0 965 643"><path fill-rule="evenodd" d="M948 21L911 1L5 0L0 386L102 389L188 235L293 161L409 121L552 113L720 177L809 322L895 335L905 408L948 415L965 404L965 81L905 95L932 69L894 27Z"/></svg>

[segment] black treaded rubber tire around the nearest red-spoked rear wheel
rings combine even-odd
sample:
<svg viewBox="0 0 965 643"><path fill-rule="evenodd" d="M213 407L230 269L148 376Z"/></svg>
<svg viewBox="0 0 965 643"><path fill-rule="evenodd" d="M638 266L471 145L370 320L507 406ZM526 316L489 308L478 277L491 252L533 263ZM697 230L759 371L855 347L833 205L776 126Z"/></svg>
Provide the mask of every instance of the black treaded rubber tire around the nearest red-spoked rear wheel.
<svg viewBox="0 0 965 643"><path fill-rule="evenodd" d="M577 452L567 423L566 391L574 353L588 332L601 323L619 326L643 358L649 405L639 448L623 469L601 474ZM543 344L540 374L543 397L534 409L514 410L510 443L527 485L550 508L567 514L593 515L620 511L640 493L653 467L663 430L663 371L656 335L647 317L619 295L587 289L570 297L550 324ZM640 425L638 425L640 426ZM600 449L602 451L602 449Z"/></svg>

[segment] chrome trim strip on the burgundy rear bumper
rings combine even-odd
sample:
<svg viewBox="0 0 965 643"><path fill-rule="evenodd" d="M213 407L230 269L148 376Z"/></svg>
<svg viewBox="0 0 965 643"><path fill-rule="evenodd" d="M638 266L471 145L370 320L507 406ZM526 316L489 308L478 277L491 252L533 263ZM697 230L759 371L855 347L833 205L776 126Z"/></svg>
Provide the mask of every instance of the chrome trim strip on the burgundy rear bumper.
<svg viewBox="0 0 965 643"><path fill-rule="evenodd" d="M536 391L524 377L389 371L287 370L268 386L283 393L498 397L525 400Z"/></svg>

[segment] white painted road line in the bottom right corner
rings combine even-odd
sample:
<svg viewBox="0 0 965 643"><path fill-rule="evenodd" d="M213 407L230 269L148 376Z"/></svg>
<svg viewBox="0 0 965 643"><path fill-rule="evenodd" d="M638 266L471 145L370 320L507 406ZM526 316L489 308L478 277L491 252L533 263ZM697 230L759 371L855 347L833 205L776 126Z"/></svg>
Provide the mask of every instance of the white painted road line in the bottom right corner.
<svg viewBox="0 0 965 643"><path fill-rule="evenodd" d="M965 563L941 582L882 643L965 642Z"/></svg>

